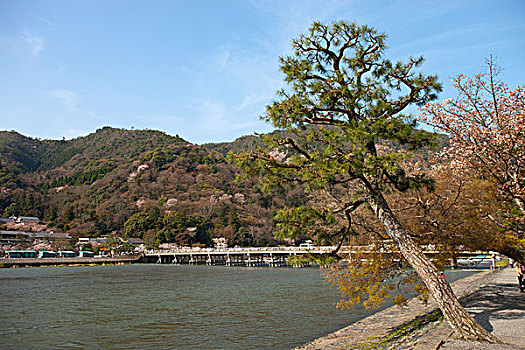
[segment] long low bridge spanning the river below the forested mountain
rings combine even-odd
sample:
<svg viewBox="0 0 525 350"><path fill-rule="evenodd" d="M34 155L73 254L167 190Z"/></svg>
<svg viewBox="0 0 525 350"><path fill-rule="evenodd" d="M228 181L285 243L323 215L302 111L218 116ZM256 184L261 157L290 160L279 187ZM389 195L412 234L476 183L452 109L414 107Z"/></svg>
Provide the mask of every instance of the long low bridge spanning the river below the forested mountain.
<svg viewBox="0 0 525 350"><path fill-rule="evenodd" d="M343 247L341 254L366 252L363 247ZM290 266L288 258L307 254L328 254L335 249L333 246L314 247L305 249L300 247L253 247L253 248L180 248L171 251L146 251L141 262L175 265L224 265L224 266ZM423 249L424 253L434 256L439 253L431 249ZM370 251L369 251L370 252ZM389 252L384 252L389 253ZM494 259L492 252L461 252L461 259L475 259L476 256L485 256L481 260L489 262ZM459 259L458 259L459 260Z"/></svg>

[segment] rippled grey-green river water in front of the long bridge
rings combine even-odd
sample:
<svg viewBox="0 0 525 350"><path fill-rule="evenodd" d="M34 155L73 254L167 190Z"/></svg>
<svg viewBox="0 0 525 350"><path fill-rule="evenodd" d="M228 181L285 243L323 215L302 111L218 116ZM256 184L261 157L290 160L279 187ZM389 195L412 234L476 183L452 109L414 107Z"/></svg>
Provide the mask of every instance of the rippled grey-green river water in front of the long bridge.
<svg viewBox="0 0 525 350"><path fill-rule="evenodd" d="M0 269L0 349L289 349L374 312L337 300L314 268Z"/></svg>

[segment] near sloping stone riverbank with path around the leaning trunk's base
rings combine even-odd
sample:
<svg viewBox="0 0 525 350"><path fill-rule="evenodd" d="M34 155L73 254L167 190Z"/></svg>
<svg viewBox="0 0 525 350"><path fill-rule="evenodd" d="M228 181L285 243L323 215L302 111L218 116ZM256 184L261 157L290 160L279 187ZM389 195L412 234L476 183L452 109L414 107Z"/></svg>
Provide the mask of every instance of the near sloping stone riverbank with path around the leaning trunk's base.
<svg viewBox="0 0 525 350"><path fill-rule="evenodd" d="M525 298L510 268L477 273L452 283L467 310L509 345L459 341L434 300L392 306L296 350L313 349L523 349Z"/></svg>

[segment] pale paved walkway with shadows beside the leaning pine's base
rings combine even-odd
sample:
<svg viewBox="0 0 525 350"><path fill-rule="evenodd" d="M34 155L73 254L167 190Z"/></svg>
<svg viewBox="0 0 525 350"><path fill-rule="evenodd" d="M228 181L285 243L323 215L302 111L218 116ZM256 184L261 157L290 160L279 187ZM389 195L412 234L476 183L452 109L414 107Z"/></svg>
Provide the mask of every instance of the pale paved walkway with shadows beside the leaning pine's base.
<svg viewBox="0 0 525 350"><path fill-rule="evenodd" d="M476 321L508 345L460 341L452 334L440 350L525 349L525 293L519 291L512 268L497 273L463 304Z"/></svg>

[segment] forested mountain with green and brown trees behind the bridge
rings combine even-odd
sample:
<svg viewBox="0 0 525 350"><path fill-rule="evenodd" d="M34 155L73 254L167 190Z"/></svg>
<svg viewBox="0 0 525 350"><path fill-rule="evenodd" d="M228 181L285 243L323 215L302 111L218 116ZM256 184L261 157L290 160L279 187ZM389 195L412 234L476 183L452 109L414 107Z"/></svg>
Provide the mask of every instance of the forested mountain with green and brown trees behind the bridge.
<svg viewBox="0 0 525 350"><path fill-rule="evenodd" d="M275 210L306 199L300 189L269 195L255 178L236 180L226 155L257 145L256 136L199 146L109 127L59 141L0 132L0 216L37 216L55 231L149 244L282 243L273 238Z"/></svg>

